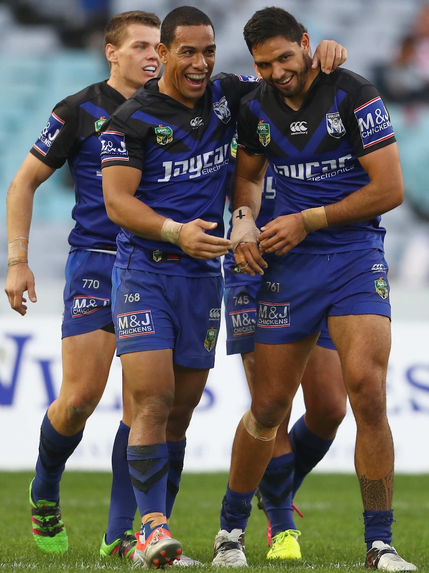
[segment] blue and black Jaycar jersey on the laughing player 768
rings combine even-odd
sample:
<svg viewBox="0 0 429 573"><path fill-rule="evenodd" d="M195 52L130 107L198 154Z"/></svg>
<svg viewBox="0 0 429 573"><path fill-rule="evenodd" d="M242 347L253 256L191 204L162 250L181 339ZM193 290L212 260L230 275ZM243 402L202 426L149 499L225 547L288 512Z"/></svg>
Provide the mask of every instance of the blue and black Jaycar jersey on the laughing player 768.
<svg viewBox="0 0 429 573"><path fill-rule="evenodd" d="M223 237L229 146L240 99L256 82L255 77L221 73L210 79L191 109L160 93L157 79L148 81L104 124L101 167L137 168L142 172L136 191L140 201L181 223L197 218L217 222L210 233ZM193 258L178 245L124 229L117 246L120 268L188 277L221 273L219 258Z"/></svg>

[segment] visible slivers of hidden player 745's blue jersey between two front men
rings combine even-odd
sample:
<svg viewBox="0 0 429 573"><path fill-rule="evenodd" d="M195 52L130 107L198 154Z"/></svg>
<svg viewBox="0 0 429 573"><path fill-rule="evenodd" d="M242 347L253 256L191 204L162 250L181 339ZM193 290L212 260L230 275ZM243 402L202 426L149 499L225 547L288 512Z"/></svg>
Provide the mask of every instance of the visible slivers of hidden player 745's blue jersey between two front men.
<svg viewBox="0 0 429 573"><path fill-rule="evenodd" d="M232 174L234 171L235 166L235 157L237 153L236 147L236 140L233 139L233 143L231 146L231 161L228 164L228 189L227 189L227 196L230 199L229 202L229 213L232 216L231 211L231 182L232 182ZM259 215L256 219L256 226L258 229L263 227L265 223L271 221L272 214L274 211L274 200L276 198L276 174L272 170L271 165L268 166L267 172L265 173L264 183L263 183L263 190L262 190L262 199L261 199L261 208L259 210ZM227 233L227 237L231 236L231 229L232 229L232 218L229 219L229 229ZM260 274L256 274L252 277L251 274L247 273L238 273L236 271L236 262L235 258L232 254L232 251L229 250L228 254L224 257L224 278L225 278L225 288L229 288L231 286L241 286L241 285L248 285L248 284L259 284L261 282Z"/></svg>

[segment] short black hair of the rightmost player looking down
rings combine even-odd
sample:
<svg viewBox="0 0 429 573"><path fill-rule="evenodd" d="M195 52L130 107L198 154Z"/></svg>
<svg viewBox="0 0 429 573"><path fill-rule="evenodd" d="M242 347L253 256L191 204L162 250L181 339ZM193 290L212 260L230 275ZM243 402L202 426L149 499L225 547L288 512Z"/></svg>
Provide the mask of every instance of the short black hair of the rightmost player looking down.
<svg viewBox="0 0 429 573"><path fill-rule="evenodd" d="M283 8L275 6L258 10L244 26L244 40L252 53L252 49L260 46L271 38L281 36L291 42L301 43L304 26L292 14Z"/></svg>

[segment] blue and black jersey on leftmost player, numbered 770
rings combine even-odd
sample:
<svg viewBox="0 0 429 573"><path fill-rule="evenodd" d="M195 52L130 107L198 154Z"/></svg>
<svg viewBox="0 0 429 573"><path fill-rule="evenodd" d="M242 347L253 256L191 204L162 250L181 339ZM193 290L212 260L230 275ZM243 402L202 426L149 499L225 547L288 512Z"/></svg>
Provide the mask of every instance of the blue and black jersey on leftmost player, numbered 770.
<svg viewBox="0 0 429 573"><path fill-rule="evenodd" d="M58 169L67 161L74 181L76 221L69 235L73 248L116 250L119 227L107 216L103 200L101 125L125 97L102 81L55 105L30 153Z"/></svg>

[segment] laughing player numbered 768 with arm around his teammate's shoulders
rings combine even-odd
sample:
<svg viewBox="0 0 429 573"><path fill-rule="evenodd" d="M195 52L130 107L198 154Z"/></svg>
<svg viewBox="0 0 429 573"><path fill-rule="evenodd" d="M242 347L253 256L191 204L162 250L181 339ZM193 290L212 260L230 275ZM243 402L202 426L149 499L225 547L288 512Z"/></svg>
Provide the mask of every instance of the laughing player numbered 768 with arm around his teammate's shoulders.
<svg viewBox="0 0 429 573"><path fill-rule="evenodd" d="M328 50L329 69L343 60L337 47ZM135 558L151 568L181 558L168 518L186 429L215 362L219 257L231 246L223 238L229 145L240 99L257 83L235 74L210 79L215 50L206 14L171 11L158 46L161 79L122 105L100 136L106 210L122 227L113 317L132 398L128 461L142 517Z"/></svg>

